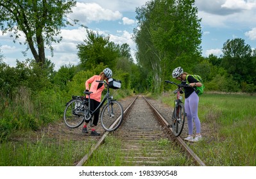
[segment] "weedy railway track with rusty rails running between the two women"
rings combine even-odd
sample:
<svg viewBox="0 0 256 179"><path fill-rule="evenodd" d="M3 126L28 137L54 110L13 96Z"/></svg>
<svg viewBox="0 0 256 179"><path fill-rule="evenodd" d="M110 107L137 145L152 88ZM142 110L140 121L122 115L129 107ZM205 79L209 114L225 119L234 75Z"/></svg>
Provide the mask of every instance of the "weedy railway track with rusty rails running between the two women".
<svg viewBox="0 0 256 179"><path fill-rule="evenodd" d="M174 137L168 122L142 96L124 110L124 121L115 132L105 132L76 164L83 166L109 134L121 141L122 166L205 166L181 137ZM100 150L100 148L99 148Z"/></svg>

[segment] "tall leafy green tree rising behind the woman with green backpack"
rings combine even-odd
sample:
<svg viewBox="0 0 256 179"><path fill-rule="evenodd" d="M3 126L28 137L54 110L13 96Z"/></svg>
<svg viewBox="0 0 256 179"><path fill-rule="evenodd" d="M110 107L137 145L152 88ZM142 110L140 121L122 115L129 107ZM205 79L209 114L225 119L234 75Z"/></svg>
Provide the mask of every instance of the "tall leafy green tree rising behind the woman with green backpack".
<svg viewBox="0 0 256 179"><path fill-rule="evenodd" d="M162 79L171 77L176 66L189 71L198 63L201 27L197 12L192 0L148 1L136 9L137 61L152 73L153 92L162 90Z"/></svg>

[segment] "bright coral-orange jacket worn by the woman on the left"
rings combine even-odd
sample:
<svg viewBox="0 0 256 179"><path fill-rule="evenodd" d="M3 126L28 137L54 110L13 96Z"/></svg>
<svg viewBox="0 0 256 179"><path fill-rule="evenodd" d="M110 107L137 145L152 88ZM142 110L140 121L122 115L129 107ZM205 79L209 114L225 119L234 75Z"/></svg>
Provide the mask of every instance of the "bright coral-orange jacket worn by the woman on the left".
<svg viewBox="0 0 256 179"><path fill-rule="evenodd" d="M100 80L101 80L100 75L94 75L94 76L90 77L90 79L88 79L85 82L85 89L88 89L89 91L93 92L90 94L90 98L94 99L98 102L101 102L101 93L105 89L104 85L102 85L101 88L97 89L99 82L96 82L96 81L100 81ZM90 86L89 86L89 84L90 84Z"/></svg>

